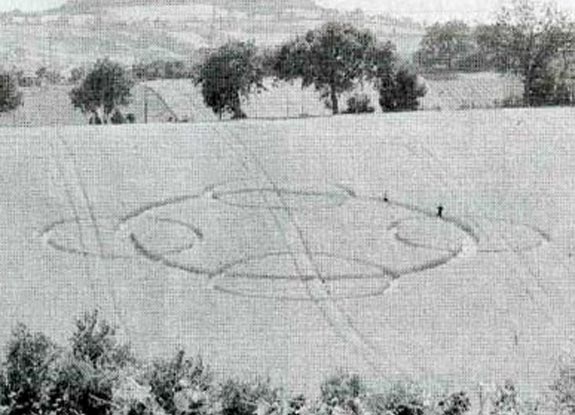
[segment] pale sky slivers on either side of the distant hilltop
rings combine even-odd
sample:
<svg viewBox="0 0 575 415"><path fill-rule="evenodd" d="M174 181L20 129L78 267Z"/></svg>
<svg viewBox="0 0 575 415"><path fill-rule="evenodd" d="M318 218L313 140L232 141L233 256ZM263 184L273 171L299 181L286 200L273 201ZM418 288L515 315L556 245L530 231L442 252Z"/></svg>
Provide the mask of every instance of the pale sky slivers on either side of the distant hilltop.
<svg viewBox="0 0 575 415"><path fill-rule="evenodd" d="M418 20L464 18L484 20L499 9L501 0L316 0L323 6L405 15ZM0 10L42 10L62 4L64 0L0 0ZM575 11L574 0L556 0L562 9Z"/></svg>

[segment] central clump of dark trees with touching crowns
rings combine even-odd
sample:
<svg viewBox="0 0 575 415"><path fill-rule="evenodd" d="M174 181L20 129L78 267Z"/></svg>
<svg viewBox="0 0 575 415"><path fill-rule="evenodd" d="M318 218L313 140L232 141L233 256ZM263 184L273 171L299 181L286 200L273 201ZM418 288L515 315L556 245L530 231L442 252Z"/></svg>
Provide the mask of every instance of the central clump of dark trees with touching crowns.
<svg viewBox="0 0 575 415"><path fill-rule="evenodd" d="M214 112L244 118L242 99L265 89L266 76L313 86L334 114L340 112L341 95L364 82L379 91L384 111L417 109L418 98L425 94L415 72L399 63L392 43L378 42L369 30L335 22L265 53L258 53L253 43L228 43L200 65L195 82Z"/></svg>

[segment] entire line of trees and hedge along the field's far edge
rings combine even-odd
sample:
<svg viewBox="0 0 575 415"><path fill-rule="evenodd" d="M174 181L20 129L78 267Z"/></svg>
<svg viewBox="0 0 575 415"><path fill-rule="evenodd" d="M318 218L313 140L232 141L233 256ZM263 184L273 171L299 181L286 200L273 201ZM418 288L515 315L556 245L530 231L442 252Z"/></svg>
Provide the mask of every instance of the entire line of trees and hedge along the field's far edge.
<svg viewBox="0 0 575 415"><path fill-rule="evenodd" d="M211 51L193 68L182 62L156 61L126 69L108 59L72 74L74 107L96 124L127 121L121 107L130 101L135 81L190 78L201 88L214 113L245 118L242 102L266 89L265 78L313 87L331 109L373 112L366 94L356 93L342 110L342 94L371 84L384 112L416 110L426 86L418 71L497 70L523 82L521 106L572 105L575 90L575 24L552 4L512 0L494 23L471 28L464 22L436 23L427 28L414 64L403 62L391 42L369 30L329 22L285 42L260 50L252 42L229 42ZM46 72L46 71L44 71ZM43 76L47 76L46 73ZM0 77L0 111L21 105L17 83ZM133 120L129 120L133 121Z"/></svg>

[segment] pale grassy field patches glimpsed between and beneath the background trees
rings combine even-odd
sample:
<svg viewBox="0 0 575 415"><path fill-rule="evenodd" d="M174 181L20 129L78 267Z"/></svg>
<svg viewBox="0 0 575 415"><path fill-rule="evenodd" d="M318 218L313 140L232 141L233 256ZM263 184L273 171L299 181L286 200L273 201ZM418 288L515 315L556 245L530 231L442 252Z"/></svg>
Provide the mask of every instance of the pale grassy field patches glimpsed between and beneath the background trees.
<svg viewBox="0 0 575 415"><path fill-rule="evenodd" d="M423 110L460 110L493 108L495 101L521 92L521 84L497 74L461 74L455 79L428 80L429 92L421 101ZM277 119L328 116L331 111L312 88L301 89L297 84L266 82L267 90L253 94L244 102L250 118ZM0 126L40 127L83 125L86 118L70 104L69 85L23 88L24 106L12 113L0 114ZM378 96L366 88L372 104L379 111ZM349 94L344 94L341 105ZM203 102L199 87L188 79L149 81L135 86L132 102L125 113L133 113L138 123L166 122L170 118L189 122L217 121L218 117Z"/></svg>

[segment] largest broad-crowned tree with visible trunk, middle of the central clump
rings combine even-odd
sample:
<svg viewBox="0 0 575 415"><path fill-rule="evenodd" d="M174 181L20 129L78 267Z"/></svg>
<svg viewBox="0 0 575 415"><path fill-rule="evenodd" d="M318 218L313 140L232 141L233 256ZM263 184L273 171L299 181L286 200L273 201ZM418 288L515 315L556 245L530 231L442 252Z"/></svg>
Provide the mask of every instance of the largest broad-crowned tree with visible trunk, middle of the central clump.
<svg viewBox="0 0 575 415"><path fill-rule="evenodd" d="M340 95L369 76L376 48L370 31L346 23L326 23L282 45L275 73L287 81L301 78L304 88L314 85L338 114Z"/></svg>

